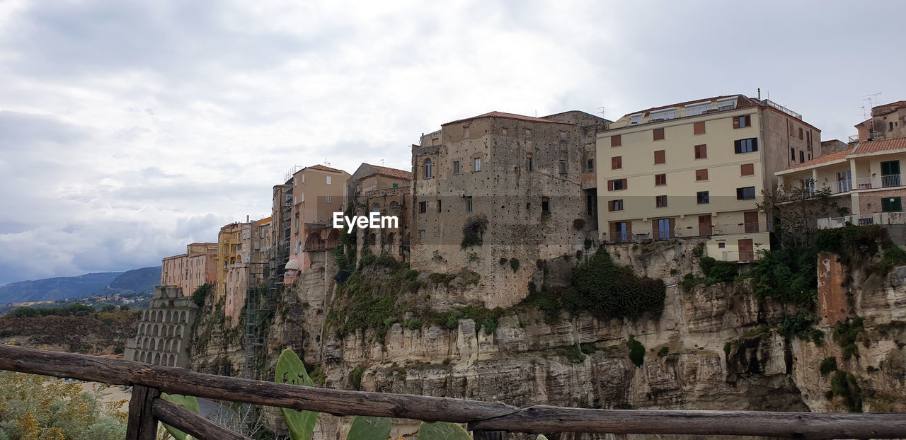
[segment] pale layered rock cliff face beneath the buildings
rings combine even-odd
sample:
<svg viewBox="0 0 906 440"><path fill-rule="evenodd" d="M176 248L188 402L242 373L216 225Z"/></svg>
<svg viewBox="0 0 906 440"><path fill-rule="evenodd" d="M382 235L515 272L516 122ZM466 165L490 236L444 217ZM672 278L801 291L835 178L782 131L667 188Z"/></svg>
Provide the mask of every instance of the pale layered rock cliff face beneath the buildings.
<svg viewBox="0 0 906 440"><path fill-rule="evenodd" d="M262 377L272 377L276 355L292 348L319 366L325 387L499 400L523 407L845 412L858 409L848 403L857 394L864 411L906 410L906 323L898 320L906 302L906 267L854 293L853 313L867 319L853 337L857 352L845 357L841 340L846 337L834 337L834 323L815 323L798 336L782 335L778 323L792 309L757 299L752 280L681 288L683 274L700 273L693 246L674 241L608 248L616 262L666 282L658 320L599 321L564 313L562 320L549 323L540 311L516 307L503 312L490 332L476 319L453 325L413 323L405 314L382 338L371 330L342 335L330 316L348 293L325 293L323 286L314 292L302 282L283 292L268 332L271 360ZM549 268L544 272L539 268L533 279L563 278ZM379 292L400 289L400 310L413 301L447 310L474 303L461 294L475 285L469 282L474 273L450 275L447 282L432 282L420 273L401 287L380 268L363 271L363 276ZM498 286L487 294L506 289ZM641 363L638 356L631 359L630 338L643 346ZM823 375L821 368L829 358L844 372L844 382L845 375L853 375L858 389L838 384L832 391L838 374L831 370ZM342 426L336 418L322 416L318 435L333 438ZM400 424L400 434L406 434L405 426Z"/></svg>

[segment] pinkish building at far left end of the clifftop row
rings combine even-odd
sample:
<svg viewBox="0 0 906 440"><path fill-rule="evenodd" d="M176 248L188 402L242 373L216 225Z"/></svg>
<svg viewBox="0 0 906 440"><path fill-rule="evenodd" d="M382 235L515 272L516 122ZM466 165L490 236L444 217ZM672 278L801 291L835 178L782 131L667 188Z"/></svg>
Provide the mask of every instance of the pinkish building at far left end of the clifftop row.
<svg viewBox="0 0 906 440"><path fill-rule="evenodd" d="M216 243L188 244L186 253L169 256L161 262L160 285L178 287L184 296L191 295L202 284L216 281Z"/></svg>

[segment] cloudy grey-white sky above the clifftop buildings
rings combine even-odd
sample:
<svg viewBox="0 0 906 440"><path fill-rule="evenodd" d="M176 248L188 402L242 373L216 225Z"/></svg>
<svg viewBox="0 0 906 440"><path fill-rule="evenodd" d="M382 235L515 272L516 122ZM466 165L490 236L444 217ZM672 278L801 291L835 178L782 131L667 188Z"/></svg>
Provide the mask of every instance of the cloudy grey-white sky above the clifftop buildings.
<svg viewBox="0 0 906 440"><path fill-rule="evenodd" d="M906 2L429 4L0 0L0 284L159 265L294 165L409 169L487 111L760 88L845 140L866 95L906 99Z"/></svg>

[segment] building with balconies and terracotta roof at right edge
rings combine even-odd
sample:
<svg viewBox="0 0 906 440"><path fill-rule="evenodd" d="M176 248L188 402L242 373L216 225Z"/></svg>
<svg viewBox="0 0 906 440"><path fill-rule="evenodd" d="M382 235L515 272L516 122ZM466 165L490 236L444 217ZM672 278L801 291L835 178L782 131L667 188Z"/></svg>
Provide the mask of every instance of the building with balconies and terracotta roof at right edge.
<svg viewBox="0 0 906 440"><path fill-rule="evenodd" d="M902 199L906 182L906 138L865 141L776 172L783 187L808 188L814 194L827 188L850 215L819 218L820 228L906 223ZM806 193L807 194L807 193Z"/></svg>

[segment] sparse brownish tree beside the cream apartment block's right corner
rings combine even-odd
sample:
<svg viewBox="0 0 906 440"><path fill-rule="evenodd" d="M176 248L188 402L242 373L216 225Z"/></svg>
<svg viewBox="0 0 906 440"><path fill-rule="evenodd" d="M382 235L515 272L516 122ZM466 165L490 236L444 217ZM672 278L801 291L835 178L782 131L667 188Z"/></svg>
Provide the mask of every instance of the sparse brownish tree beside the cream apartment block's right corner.
<svg viewBox="0 0 906 440"><path fill-rule="evenodd" d="M774 219L774 232L781 244L806 247L817 229L817 219L849 214L849 209L831 196L831 188L815 191L813 179L805 184L804 187L777 186L761 192L764 201L756 206Z"/></svg>

